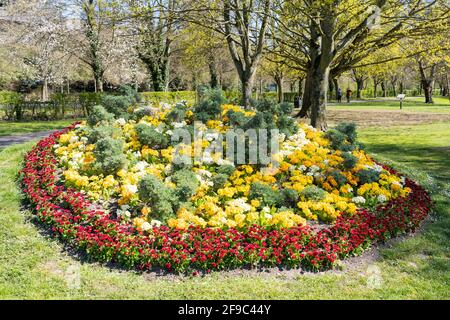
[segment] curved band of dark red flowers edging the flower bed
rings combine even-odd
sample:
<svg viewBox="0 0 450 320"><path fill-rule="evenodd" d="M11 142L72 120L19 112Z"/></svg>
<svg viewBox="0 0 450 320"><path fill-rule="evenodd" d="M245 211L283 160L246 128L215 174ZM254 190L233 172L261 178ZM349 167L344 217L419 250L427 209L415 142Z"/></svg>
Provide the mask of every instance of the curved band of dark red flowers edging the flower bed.
<svg viewBox="0 0 450 320"><path fill-rule="evenodd" d="M374 212L361 209L353 216L343 214L328 229L302 226L266 230L255 225L245 231L176 230L163 226L146 235L92 209L84 194L58 181L52 148L56 139L74 126L44 138L25 156L20 171L22 190L38 219L60 238L89 257L125 267L163 267L180 272L255 265L326 270L337 259L360 254L371 243L414 231L432 206L424 188L406 179L412 189L407 197L391 200Z"/></svg>

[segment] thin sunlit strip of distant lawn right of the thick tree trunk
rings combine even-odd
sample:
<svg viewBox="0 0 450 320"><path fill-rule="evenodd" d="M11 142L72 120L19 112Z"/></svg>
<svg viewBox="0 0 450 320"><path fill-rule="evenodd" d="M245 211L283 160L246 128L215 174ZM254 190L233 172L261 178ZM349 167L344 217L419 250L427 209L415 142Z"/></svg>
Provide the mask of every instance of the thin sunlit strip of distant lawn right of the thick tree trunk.
<svg viewBox="0 0 450 320"><path fill-rule="evenodd" d="M434 104L426 104L423 97L407 97L403 103L403 111L450 114L450 100L448 98L435 97L433 99ZM330 110L400 110L400 103L395 98L378 98L350 104L346 102L332 103L328 108Z"/></svg>

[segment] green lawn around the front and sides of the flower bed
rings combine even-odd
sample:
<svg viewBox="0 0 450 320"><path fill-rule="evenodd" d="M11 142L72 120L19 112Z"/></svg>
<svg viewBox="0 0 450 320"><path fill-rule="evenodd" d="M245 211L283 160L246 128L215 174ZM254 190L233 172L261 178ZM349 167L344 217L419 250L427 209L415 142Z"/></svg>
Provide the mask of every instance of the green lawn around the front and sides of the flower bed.
<svg viewBox="0 0 450 320"><path fill-rule="evenodd" d="M215 272L204 277L140 274L68 255L20 210L15 178L32 143L0 152L0 298L3 299L449 299L450 124L365 129L367 150L426 186L432 221L380 249L376 261L319 274ZM374 269L375 268L375 269ZM71 275L80 274L80 286ZM381 284L368 286L379 271ZM370 282L370 281L369 281Z"/></svg>

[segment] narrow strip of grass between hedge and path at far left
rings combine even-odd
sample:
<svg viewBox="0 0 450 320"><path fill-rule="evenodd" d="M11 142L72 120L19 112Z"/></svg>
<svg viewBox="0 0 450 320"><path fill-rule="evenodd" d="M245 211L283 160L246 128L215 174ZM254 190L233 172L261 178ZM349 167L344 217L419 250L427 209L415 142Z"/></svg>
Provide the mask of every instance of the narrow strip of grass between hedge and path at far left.
<svg viewBox="0 0 450 320"><path fill-rule="evenodd" d="M30 121L30 122L0 122L0 137L16 134L26 134L38 131L61 129L73 123L74 119L54 121Z"/></svg>

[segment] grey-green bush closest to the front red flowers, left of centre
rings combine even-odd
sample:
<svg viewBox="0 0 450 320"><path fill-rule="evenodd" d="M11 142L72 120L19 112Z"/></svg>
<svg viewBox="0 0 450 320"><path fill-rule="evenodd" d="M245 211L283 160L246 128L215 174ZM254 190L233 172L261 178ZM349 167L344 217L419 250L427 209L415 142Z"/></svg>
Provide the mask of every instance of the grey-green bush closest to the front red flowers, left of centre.
<svg viewBox="0 0 450 320"><path fill-rule="evenodd" d="M157 177L148 174L139 182L139 199L152 208L151 217L166 222L174 214L172 191Z"/></svg>

